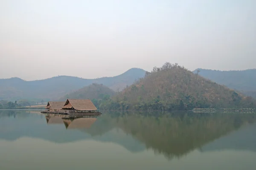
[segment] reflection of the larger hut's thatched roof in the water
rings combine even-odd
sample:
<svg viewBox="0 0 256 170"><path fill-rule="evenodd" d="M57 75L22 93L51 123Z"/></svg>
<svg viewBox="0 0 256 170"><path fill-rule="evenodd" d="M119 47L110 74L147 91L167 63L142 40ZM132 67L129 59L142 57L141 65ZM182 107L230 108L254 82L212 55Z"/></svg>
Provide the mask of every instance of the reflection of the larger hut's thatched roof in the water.
<svg viewBox="0 0 256 170"><path fill-rule="evenodd" d="M96 121L97 118L78 118L78 119L63 119L67 129L87 129Z"/></svg>

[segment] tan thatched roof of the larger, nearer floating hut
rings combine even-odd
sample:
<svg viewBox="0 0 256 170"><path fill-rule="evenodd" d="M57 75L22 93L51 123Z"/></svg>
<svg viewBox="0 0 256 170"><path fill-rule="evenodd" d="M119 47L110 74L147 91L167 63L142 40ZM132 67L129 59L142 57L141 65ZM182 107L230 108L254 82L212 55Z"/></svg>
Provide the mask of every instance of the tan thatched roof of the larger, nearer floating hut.
<svg viewBox="0 0 256 170"><path fill-rule="evenodd" d="M97 108L93 105L90 99L67 99L63 109L76 109L78 111L96 111Z"/></svg>

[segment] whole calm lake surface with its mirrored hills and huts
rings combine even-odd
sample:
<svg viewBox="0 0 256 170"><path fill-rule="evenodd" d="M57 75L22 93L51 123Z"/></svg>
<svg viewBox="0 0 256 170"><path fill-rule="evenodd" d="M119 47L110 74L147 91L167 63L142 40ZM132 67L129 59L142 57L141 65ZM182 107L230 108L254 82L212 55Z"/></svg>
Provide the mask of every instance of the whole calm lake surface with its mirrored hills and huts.
<svg viewBox="0 0 256 170"><path fill-rule="evenodd" d="M254 170L256 114L0 111L0 170Z"/></svg>

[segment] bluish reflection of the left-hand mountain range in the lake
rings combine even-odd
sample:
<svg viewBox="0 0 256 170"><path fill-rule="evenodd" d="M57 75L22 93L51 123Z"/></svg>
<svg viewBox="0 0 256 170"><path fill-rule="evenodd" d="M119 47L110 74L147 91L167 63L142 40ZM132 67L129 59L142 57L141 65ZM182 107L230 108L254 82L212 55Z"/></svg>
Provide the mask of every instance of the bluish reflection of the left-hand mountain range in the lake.
<svg viewBox="0 0 256 170"><path fill-rule="evenodd" d="M2 114L3 113L3 114ZM26 119L23 119L25 117ZM145 150L145 145L135 140L131 134L124 133L121 129L117 129L111 124L108 116L99 116L96 121L90 125L83 125L81 127L76 124L73 130L66 129L63 122L67 120L73 122L74 118L62 119L65 116L56 116L54 119L52 115L45 116L44 114L38 115L27 113L25 111L0 111L0 139L17 140L21 137L33 137L48 140L55 143L75 142L79 140L96 140L101 142L113 142L122 145L131 152L139 152ZM86 119L86 116L79 116L77 119ZM59 124L59 118L62 123ZM45 122L45 119L52 119L54 126ZM89 118L92 119L92 118ZM80 123L80 121L78 121ZM90 122L90 121L89 121ZM70 124L71 125L71 124Z"/></svg>

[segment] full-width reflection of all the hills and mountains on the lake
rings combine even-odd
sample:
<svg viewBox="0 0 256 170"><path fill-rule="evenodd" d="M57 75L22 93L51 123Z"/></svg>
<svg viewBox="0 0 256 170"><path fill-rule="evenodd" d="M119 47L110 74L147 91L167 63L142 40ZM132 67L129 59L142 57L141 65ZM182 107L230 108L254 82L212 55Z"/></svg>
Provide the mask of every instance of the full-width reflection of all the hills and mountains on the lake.
<svg viewBox="0 0 256 170"><path fill-rule="evenodd" d="M246 134L252 136L256 126L245 127L256 122L254 114L129 112L70 118L25 112L1 115L0 139L6 140L16 140L23 136L57 143L90 139L120 144L132 152L150 148L169 159L183 156L197 148L203 151L229 147L236 149L236 144L241 144L238 141L244 142L248 150L255 151L253 143L246 145L250 139ZM57 124L51 126L49 122ZM250 140L256 141L252 138ZM230 145L232 141L233 147Z"/></svg>

